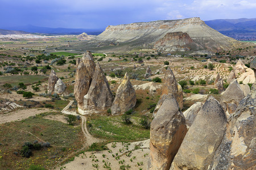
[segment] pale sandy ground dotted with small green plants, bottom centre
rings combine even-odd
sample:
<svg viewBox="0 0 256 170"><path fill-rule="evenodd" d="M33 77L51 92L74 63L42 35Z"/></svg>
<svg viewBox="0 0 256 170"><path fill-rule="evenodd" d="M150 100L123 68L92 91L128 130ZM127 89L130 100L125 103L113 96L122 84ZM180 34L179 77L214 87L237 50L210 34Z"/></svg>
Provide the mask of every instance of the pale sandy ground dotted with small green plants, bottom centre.
<svg viewBox="0 0 256 170"><path fill-rule="evenodd" d="M106 169L108 165L113 170L120 169L121 165L129 165L130 169L147 169L147 162L150 154L150 139L133 143L109 143L109 150L90 151L75 157L62 167L64 169ZM124 161L123 161L124 160ZM131 162L132 161L132 162ZM93 167L94 165L94 167Z"/></svg>

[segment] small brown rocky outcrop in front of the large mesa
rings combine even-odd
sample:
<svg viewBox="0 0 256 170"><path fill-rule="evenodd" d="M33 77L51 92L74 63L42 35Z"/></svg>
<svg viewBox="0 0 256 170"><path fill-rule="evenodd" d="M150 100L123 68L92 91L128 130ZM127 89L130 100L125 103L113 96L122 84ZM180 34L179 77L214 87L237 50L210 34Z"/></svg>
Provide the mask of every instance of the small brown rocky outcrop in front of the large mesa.
<svg viewBox="0 0 256 170"><path fill-rule="evenodd" d="M184 47L191 44L193 40L188 35L188 33L183 32L169 32L162 39L155 42L155 48L163 48L163 47Z"/></svg>

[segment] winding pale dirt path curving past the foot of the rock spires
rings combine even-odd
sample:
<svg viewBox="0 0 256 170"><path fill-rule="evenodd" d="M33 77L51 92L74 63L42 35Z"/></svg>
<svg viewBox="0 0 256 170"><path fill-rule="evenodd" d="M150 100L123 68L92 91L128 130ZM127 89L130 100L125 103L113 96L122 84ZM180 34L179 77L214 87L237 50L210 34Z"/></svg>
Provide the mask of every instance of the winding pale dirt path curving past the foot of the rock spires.
<svg viewBox="0 0 256 170"><path fill-rule="evenodd" d="M73 104L73 100L69 100L69 104L61 111L61 113L72 114L75 116L78 116L78 115L81 116L80 114L77 114L76 112L68 111L69 106L72 104ZM89 131L87 130L87 126L86 126L86 117L81 116L81 119L82 119L82 132L84 133L85 138L86 138L85 146L90 146L95 142L102 142L103 141L102 139L97 139L97 138L94 138L92 135L90 135Z"/></svg>

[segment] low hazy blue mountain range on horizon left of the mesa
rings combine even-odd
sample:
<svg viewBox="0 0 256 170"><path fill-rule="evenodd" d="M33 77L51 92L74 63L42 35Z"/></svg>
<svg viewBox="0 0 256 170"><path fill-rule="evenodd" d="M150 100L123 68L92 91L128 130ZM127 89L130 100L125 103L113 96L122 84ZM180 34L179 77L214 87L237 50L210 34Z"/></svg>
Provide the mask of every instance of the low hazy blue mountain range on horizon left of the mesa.
<svg viewBox="0 0 256 170"><path fill-rule="evenodd" d="M84 29L84 28L48 28L48 27L36 27L34 25L25 25L17 27L7 27L5 29L22 30L31 33L46 33L55 35L80 35L85 32L88 35L99 35L104 29Z"/></svg>

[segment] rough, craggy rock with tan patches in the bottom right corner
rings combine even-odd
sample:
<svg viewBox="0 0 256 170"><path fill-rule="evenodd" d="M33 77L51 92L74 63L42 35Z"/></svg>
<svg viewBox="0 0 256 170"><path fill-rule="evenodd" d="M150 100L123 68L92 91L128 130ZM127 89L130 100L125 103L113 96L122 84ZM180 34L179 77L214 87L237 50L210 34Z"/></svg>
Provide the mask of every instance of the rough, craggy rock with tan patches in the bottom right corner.
<svg viewBox="0 0 256 170"><path fill-rule="evenodd" d="M240 101L209 169L256 168L255 105L255 98L250 95Z"/></svg>

